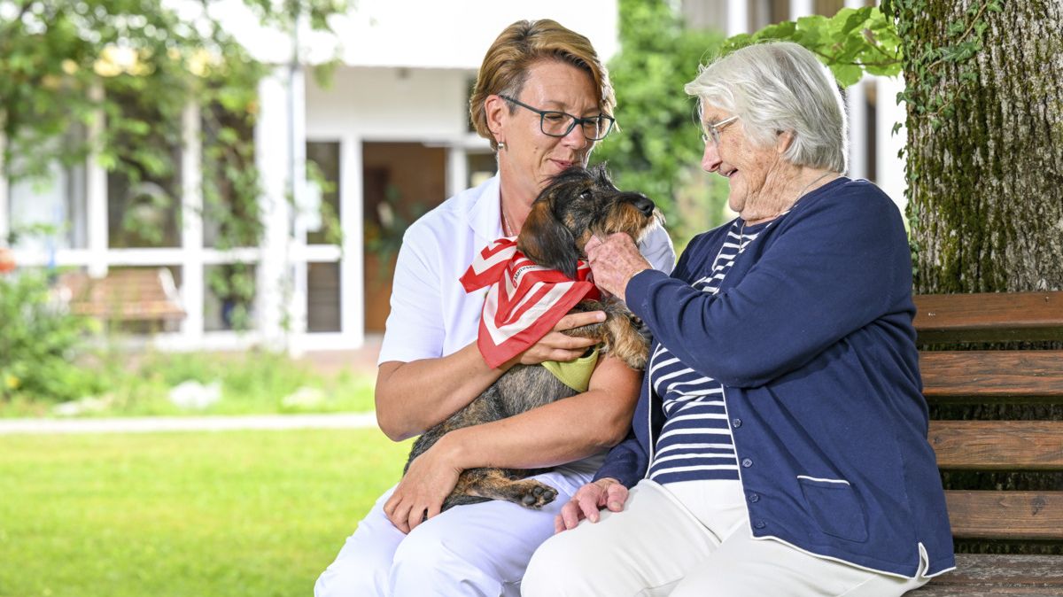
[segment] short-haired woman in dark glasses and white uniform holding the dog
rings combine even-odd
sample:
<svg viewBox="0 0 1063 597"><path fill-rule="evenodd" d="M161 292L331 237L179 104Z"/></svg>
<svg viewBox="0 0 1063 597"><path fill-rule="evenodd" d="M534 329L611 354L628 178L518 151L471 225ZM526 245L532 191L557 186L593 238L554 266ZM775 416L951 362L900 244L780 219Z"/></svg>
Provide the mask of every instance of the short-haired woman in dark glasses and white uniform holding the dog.
<svg viewBox="0 0 1063 597"><path fill-rule="evenodd" d="M484 246L517 236L551 176L586 166L612 127L613 103L609 74L590 41L555 21L514 22L487 51L469 107L477 133L497 151L499 175L446 200L403 238L376 380L376 417L388 437L405 440L442 422L516 362L571 361L593 343L558 330L605 313L570 314L492 369L476 347L484 293L467 293L458 278ZM662 228L642 251L671 271L675 252ZM377 500L318 579L315 595L517 595L561 506L591 480L605 450L624 439L638 395L638 372L606 357L580 394L448 433ZM556 466L535 478L558 497L542 510L486 501L440 514L458 474L477 466Z"/></svg>

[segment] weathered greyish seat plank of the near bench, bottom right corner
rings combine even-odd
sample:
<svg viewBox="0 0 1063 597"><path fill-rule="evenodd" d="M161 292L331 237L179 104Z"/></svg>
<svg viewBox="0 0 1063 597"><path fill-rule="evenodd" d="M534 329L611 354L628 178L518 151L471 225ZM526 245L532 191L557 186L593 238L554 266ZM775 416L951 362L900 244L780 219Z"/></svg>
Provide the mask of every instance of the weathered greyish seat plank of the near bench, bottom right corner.
<svg viewBox="0 0 1063 597"><path fill-rule="evenodd" d="M957 553L956 569L935 577L917 597L1063 595L1063 558Z"/></svg>

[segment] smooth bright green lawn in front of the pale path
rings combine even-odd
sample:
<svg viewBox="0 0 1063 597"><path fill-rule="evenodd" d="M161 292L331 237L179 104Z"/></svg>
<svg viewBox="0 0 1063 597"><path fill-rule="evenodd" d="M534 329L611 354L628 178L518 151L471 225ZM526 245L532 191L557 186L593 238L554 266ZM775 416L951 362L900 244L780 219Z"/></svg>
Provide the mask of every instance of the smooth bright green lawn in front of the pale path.
<svg viewBox="0 0 1063 597"><path fill-rule="evenodd" d="M308 596L408 449L369 429L0 437L0 597Z"/></svg>

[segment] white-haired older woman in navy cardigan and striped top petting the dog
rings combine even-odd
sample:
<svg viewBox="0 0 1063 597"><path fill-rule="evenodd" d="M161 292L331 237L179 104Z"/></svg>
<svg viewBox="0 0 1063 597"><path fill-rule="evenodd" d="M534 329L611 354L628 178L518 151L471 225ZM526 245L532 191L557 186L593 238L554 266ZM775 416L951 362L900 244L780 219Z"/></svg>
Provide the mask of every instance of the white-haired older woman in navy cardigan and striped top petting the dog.
<svg viewBox="0 0 1063 597"><path fill-rule="evenodd" d="M739 217L671 277L621 236L588 245L655 343L632 434L523 594L901 595L954 567L904 223L841 174L841 97L805 49L736 51L687 92Z"/></svg>

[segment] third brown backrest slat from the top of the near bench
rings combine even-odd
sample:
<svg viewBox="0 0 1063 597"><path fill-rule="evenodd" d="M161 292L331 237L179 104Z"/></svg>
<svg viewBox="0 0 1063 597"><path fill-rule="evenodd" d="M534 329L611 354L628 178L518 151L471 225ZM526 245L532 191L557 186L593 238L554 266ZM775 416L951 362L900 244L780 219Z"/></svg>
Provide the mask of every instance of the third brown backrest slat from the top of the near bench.
<svg viewBox="0 0 1063 597"><path fill-rule="evenodd" d="M938 466L1063 471L1063 421L931 421Z"/></svg>

